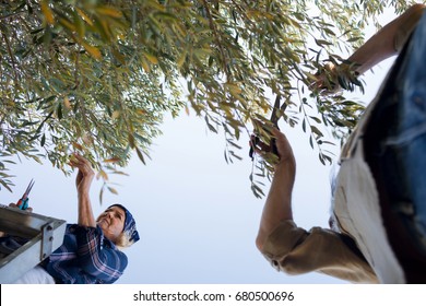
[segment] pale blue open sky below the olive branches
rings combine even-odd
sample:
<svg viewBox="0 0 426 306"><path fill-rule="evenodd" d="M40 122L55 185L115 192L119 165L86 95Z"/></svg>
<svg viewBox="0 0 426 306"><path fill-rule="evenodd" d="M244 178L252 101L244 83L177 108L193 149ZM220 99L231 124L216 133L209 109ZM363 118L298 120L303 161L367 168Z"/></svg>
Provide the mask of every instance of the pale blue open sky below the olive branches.
<svg viewBox="0 0 426 306"><path fill-rule="evenodd" d="M390 21L386 16L383 21ZM372 32L371 32L372 33ZM367 35L366 37L369 37ZM355 98L370 102L393 59L367 72L366 94ZM296 156L293 192L295 222L307 229L328 227L330 166L323 166L301 127L281 122ZM263 199L250 190L252 162L248 134L242 134L242 161L227 164L225 138L208 130L205 122L182 114L166 118L163 136L154 140L152 160L143 165L135 156L123 169L128 176L113 176L118 195L104 193L100 180L92 185L95 215L107 205L121 203L137 220L141 240L126 250L129 266L121 284L304 284L345 283L320 273L286 275L275 271L255 245ZM22 161L11 166L13 193L0 190L0 203L16 202L32 178L29 204L34 212L76 222L75 174L66 177L49 162ZM264 180L268 192L269 181Z"/></svg>

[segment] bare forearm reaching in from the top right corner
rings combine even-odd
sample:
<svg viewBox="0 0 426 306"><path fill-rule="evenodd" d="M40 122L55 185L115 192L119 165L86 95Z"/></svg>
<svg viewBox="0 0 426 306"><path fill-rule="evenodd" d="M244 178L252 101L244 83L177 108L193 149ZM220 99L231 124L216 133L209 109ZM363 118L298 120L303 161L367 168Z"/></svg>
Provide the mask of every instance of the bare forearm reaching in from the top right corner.
<svg viewBox="0 0 426 306"><path fill-rule="evenodd" d="M380 61L397 55L417 25L424 8L423 4L411 7L357 49L348 58L348 61L357 63L356 71L363 74Z"/></svg>

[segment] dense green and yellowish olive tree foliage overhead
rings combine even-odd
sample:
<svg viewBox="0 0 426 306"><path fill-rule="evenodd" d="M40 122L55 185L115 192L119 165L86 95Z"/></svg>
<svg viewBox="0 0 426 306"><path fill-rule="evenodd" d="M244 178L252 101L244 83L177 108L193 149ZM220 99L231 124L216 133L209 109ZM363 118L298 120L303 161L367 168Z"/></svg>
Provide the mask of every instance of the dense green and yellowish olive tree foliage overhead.
<svg viewBox="0 0 426 306"><path fill-rule="evenodd" d="M0 0L0 184L16 155L68 172L81 151L107 180L131 154L145 161L165 114L193 111L224 131L226 160L263 125L280 97L281 120L300 123L322 163L323 129L336 139L363 105L309 90L324 62L363 42L387 7L409 1ZM344 74L342 74L344 75ZM362 87L346 73L344 89ZM253 120L256 119L256 120ZM255 122L255 123L253 123ZM246 154L246 152L242 152ZM257 175L268 175L258 162ZM260 181L261 184L261 181ZM255 195L262 195L252 178Z"/></svg>

